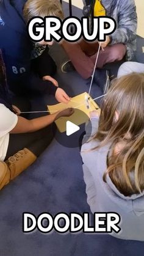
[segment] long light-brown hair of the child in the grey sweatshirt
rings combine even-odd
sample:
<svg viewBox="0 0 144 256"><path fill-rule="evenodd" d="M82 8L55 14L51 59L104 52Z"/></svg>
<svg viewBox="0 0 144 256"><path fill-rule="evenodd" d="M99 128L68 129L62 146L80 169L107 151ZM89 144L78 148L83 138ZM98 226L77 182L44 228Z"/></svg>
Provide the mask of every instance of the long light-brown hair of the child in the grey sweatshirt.
<svg viewBox="0 0 144 256"><path fill-rule="evenodd" d="M109 174L125 196L141 193L144 190L144 74L132 73L113 82L103 101L95 139L101 142L99 147L112 143L104 181ZM121 150L113 153L113 148L121 142Z"/></svg>

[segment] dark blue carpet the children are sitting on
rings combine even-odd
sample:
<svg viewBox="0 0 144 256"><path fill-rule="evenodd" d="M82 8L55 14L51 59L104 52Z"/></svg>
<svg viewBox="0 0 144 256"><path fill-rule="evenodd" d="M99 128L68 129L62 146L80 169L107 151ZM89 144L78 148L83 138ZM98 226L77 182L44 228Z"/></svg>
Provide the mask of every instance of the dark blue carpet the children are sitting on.
<svg viewBox="0 0 144 256"><path fill-rule="evenodd" d="M67 4L64 9L68 12ZM74 15L79 15L78 9L74 8L73 11ZM52 55L55 59L59 56L58 67L67 59L58 45L52 49ZM87 81L76 72L62 74L59 69L57 79L71 97L88 90ZM94 84L93 95L101 93ZM44 102L53 103L54 99L37 98L32 101L33 108L43 109ZM40 232L23 234L22 214L25 211L36 216L42 212L90 211L86 202L79 148L65 148L55 140L33 166L1 191L0 209L1 256L143 255L144 243L118 240L109 235L60 235L56 232L51 235Z"/></svg>

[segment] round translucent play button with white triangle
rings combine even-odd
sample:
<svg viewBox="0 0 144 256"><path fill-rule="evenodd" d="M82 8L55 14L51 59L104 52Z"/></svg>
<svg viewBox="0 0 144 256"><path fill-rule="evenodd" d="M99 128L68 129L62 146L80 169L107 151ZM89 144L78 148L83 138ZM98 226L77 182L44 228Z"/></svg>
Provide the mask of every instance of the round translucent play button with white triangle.
<svg viewBox="0 0 144 256"><path fill-rule="evenodd" d="M56 120L57 132L55 138L57 142L68 148L81 147L85 134L85 123L88 121L88 115L79 109L74 109L74 114L70 117L60 117ZM91 134L92 125L90 124L88 127L90 130L88 134Z"/></svg>

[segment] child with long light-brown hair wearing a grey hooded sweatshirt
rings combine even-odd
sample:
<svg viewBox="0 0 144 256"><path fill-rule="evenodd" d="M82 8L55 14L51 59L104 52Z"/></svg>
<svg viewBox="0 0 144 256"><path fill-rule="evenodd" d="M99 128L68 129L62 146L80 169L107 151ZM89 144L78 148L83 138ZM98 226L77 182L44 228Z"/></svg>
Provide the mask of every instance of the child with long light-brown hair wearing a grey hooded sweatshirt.
<svg viewBox="0 0 144 256"><path fill-rule="evenodd" d="M100 117L91 113L81 150L90 209L120 214L121 232L112 235L126 240L144 241L143 109L144 75L116 79Z"/></svg>

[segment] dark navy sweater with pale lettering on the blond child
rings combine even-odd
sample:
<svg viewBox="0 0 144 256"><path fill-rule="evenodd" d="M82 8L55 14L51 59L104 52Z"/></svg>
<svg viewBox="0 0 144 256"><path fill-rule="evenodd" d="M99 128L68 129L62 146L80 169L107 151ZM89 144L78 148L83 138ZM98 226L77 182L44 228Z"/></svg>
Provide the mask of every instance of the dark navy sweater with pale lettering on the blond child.
<svg viewBox="0 0 144 256"><path fill-rule="evenodd" d="M32 71L31 51L33 43L27 34L23 18L26 0L0 1L0 48L4 53L7 81L12 90L22 87L43 91L47 86L49 93L55 93L51 82L42 81ZM42 67L41 67L42 68ZM49 75L49 74L46 74Z"/></svg>

